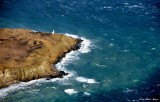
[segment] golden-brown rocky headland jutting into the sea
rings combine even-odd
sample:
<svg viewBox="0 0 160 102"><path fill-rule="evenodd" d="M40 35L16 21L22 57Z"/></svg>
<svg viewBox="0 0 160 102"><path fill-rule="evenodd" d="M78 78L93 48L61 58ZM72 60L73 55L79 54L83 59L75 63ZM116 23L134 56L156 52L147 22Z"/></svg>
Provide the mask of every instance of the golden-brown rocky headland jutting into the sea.
<svg viewBox="0 0 160 102"><path fill-rule="evenodd" d="M26 29L0 29L0 88L19 81L58 77L54 64L79 39Z"/></svg>

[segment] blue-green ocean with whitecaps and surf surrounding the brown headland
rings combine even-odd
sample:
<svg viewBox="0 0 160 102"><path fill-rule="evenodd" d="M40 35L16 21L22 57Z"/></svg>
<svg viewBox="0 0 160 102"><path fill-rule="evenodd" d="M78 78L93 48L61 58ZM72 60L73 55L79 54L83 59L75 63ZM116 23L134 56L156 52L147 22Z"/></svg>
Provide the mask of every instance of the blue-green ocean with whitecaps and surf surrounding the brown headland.
<svg viewBox="0 0 160 102"><path fill-rule="evenodd" d="M1 0L0 28L85 38L57 65L68 77L1 89L1 102L160 101L159 0Z"/></svg>

